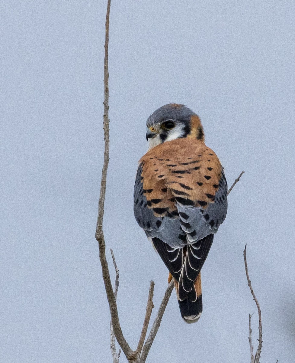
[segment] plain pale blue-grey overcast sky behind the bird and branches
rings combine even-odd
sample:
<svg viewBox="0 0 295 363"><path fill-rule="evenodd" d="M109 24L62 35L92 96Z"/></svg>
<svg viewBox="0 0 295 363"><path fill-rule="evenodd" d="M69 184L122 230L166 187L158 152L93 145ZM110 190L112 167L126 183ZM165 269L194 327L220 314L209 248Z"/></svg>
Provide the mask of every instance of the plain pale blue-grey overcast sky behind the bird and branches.
<svg viewBox="0 0 295 363"><path fill-rule="evenodd" d="M103 162L106 1L3 0L1 313L4 363L112 362L95 225ZM167 270L133 217L145 121L183 103L204 126L228 184L228 215L202 269L203 314L185 324L175 292L147 363L295 361L292 1L115 1L109 44L110 163L104 232L120 270L122 330L135 349L149 283ZM153 317L155 316L155 311ZM120 362L126 362L121 354Z"/></svg>

